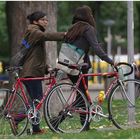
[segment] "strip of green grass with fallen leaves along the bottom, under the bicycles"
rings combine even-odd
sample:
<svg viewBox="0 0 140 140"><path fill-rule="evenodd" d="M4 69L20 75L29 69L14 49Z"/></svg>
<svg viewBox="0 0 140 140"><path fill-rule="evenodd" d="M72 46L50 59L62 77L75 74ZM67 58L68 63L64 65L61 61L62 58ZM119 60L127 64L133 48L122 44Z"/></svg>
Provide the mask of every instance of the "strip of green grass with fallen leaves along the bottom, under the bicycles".
<svg viewBox="0 0 140 140"><path fill-rule="evenodd" d="M111 122L103 119L100 122L92 122L91 129L89 131L84 131L78 134L65 134L53 133L46 123L42 123L41 126L46 128L46 133L41 135L27 135L24 133L20 137L7 136L5 139L139 139L140 130L136 129L127 129L119 130L112 125ZM1 137L0 137L1 139Z"/></svg>

